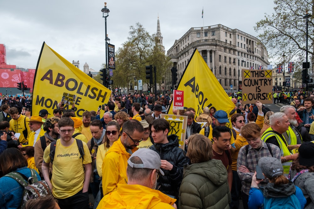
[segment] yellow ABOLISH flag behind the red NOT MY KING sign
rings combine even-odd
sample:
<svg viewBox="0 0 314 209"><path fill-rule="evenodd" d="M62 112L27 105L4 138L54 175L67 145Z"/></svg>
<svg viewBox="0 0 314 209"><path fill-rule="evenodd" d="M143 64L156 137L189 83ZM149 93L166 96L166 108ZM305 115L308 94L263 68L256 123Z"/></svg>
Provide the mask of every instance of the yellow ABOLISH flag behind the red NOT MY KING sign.
<svg viewBox="0 0 314 209"><path fill-rule="evenodd" d="M197 49L183 72L177 90L184 91L184 109L193 107L196 110L195 118L202 114L204 107L224 110L230 118L229 113L235 107ZM173 102L168 114L173 114L172 109Z"/></svg>

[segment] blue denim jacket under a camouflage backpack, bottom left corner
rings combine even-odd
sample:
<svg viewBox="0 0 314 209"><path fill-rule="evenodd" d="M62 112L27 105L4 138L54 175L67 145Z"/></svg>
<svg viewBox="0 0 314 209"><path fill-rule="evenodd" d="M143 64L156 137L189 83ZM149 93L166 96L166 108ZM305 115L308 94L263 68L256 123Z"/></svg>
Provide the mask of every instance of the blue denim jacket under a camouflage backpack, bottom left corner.
<svg viewBox="0 0 314 209"><path fill-rule="evenodd" d="M26 177L30 177L30 169L27 167L18 168L15 170ZM38 180L40 176L36 172ZM0 178L0 208L1 209L16 209L22 202L24 188L16 180L11 177L3 176Z"/></svg>

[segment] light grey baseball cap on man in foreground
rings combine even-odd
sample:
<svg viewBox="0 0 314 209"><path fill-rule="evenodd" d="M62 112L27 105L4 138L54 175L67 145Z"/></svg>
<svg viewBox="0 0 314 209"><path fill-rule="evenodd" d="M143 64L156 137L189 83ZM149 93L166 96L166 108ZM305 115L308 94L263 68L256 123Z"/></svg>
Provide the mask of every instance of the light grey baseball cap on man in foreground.
<svg viewBox="0 0 314 209"><path fill-rule="evenodd" d="M142 160L142 164L134 164L131 162L131 158L137 156ZM160 173L160 175L165 175L164 172L160 169L161 160L157 152L151 149L138 149L135 151L131 157L127 160L127 164L129 164L132 168L148 168L148 169L156 169Z"/></svg>

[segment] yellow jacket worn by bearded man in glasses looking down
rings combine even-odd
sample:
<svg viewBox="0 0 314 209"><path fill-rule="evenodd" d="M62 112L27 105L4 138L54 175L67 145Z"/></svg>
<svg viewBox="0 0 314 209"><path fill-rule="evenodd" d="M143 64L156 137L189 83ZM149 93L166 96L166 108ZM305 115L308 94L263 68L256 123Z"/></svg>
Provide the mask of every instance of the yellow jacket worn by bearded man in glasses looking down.
<svg viewBox="0 0 314 209"><path fill-rule="evenodd" d="M135 152L138 148L134 148ZM128 153L119 138L115 141L105 155L102 163L102 190L104 196L116 190L118 183L127 183Z"/></svg>

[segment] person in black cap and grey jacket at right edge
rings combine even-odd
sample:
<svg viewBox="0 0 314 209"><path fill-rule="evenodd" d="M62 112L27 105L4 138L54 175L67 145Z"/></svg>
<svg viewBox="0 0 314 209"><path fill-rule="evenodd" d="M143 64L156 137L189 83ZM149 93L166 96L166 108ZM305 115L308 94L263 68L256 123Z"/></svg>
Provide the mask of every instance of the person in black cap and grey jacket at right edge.
<svg viewBox="0 0 314 209"><path fill-rule="evenodd" d="M292 162L289 178L306 198L305 209L314 208L314 144L304 142L299 147L299 157Z"/></svg>

